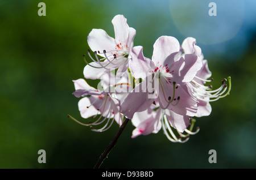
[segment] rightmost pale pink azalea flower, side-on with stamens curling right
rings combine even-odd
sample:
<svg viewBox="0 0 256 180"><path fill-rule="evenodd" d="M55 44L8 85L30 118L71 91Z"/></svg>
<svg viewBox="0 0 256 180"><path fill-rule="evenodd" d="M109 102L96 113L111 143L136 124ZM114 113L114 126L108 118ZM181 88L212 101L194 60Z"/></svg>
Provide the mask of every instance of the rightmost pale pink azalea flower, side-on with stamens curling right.
<svg viewBox="0 0 256 180"><path fill-rule="evenodd" d="M204 59L204 55L203 53L201 53L201 49L199 48L199 46L196 45L196 39L193 37L185 38L181 45L181 48L184 54L194 53L195 55L197 55L199 57L199 60L203 64L200 70L197 71L195 77L188 84L191 91L193 92L193 96L195 96L197 98L197 101L199 101L199 103L197 104L197 113L195 114L195 116L202 117L210 115L210 113L212 112L210 102L216 101L219 98L223 98L229 95L231 89L230 77L228 78L229 88L227 88L226 79L222 80L221 86L215 90L212 90L211 85L205 86L205 83L212 82L213 79L209 79L210 76L212 76L212 72L210 72L208 68L208 62L206 59Z"/></svg>

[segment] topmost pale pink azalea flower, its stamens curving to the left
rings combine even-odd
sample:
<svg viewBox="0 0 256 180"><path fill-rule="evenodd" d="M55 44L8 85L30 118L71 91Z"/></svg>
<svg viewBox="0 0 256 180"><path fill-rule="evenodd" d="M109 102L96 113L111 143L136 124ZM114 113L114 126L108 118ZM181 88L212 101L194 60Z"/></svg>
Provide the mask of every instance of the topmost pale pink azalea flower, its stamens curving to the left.
<svg viewBox="0 0 256 180"><path fill-rule="evenodd" d="M106 72L118 68L117 74L123 75L128 68L133 39L136 34L134 28L129 27L123 15L116 15L112 24L114 25L115 38L110 37L103 29L92 29L88 35L88 44L94 53L94 58L89 57L93 62L88 63L84 68L86 79L98 79ZM99 58L100 55L103 58Z"/></svg>

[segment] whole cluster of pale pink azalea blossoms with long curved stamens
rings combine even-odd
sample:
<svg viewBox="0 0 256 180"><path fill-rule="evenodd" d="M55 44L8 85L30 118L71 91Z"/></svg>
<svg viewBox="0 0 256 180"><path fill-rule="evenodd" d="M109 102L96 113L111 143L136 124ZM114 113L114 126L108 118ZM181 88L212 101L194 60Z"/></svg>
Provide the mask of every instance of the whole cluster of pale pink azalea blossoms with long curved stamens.
<svg viewBox="0 0 256 180"><path fill-rule="evenodd" d="M85 79L73 80L73 95L82 97L81 117L94 120L82 123L71 118L97 132L114 122L121 126L128 118L135 126L132 138L162 129L171 142L186 142L199 131L192 130L194 117L210 115L210 102L229 95L230 77L217 89L205 85L212 82L212 73L195 38L185 38L180 45L175 37L161 36L150 59L144 57L142 46L134 46L136 31L123 15L116 15L112 24L115 38L102 29L92 29L88 35L84 77L100 79L98 87Z"/></svg>

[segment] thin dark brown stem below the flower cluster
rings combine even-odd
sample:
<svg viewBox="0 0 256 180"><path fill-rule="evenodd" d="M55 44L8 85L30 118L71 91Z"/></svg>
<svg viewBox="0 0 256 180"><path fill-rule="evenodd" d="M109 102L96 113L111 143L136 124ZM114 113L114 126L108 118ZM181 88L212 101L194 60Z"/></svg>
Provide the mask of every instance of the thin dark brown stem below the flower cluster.
<svg viewBox="0 0 256 180"><path fill-rule="evenodd" d="M117 143L117 139L119 138L119 136L122 134L124 128L126 127L127 123L129 122L130 119L125 118L125 121L123 121L122 125L120 126L117 134L115 134L114 138L112 139L112 141L110 142L110 144L108 145L108 147L105 149L105 151L101 154L100 158L98 159L98 161L96 162L96 164L94 165L93 169L98 169L100 168L102 162L105 160L106 156L108 156L109 152L113 149L114 145Z"/></svg>

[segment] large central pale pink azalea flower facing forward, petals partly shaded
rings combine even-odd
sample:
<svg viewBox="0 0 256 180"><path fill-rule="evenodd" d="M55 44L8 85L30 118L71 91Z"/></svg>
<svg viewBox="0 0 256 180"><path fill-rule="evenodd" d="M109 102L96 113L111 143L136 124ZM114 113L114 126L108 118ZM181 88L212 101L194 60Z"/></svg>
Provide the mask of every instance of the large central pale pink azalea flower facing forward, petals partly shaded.
<svg viewBox="0 0 256 180"><path fill-rule="evenodd" d="M135 112L148 109L155 98L162 109L172 110L180 115L196 114L197 100L182 86L191 82L202 63L195 54L179 57L179 50L179 41L170 36L162 36L156 40L152 61L144 57L142 46L133 48L129 62L130 70L134 78L144 80L121 105L122 113L127 118L131 119ZM152 88L152 84L156 87ZM148 98L150 93L154 93L155 98Z"/></svg>

